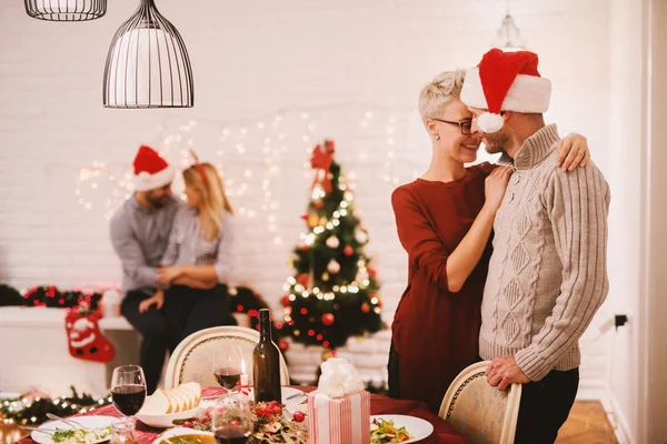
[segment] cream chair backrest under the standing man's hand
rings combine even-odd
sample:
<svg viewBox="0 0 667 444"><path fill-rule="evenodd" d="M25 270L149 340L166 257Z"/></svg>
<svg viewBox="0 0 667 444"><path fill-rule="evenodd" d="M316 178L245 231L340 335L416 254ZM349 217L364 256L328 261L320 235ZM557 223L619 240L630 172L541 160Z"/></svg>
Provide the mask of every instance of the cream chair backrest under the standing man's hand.
<svg viewBox="0 0 667 444"><path fill-rule="evenodd" d="M490 386L485 376L489 364L478 362L459 373L445 394L439 416L472 444L511 444L521 384L511 384L506 391Z"/></svg>

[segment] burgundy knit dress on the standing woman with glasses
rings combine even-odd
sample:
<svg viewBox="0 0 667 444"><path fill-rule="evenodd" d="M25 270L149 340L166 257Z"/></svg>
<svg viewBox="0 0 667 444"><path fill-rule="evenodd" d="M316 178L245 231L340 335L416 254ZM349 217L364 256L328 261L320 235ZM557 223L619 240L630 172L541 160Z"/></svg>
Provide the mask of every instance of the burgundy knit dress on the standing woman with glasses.
<svg viewBox="0 0 667 444"><path fill-rule="evenodd" d="M452 182L417 179L391 195L398 236L409 261L408 286L391 326L399 356L399 397L422 401L436 413L456 375L479 361L490 241L457 293L447 287L447 256L481 210L485 179L492 168L470 167Z"/></svg>

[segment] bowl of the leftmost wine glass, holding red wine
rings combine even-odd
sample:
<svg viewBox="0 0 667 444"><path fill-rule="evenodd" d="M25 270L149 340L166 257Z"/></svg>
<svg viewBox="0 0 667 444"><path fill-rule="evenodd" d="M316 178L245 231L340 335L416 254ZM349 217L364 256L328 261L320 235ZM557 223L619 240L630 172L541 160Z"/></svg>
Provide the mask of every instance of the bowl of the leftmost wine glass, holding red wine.
<svg viewBox="0 0 667 444"><path fill-rule="evenodd" d="M133 422L146 401L146 377L139 365L121 365L111 376L111 401L116 410Z"/></svg>

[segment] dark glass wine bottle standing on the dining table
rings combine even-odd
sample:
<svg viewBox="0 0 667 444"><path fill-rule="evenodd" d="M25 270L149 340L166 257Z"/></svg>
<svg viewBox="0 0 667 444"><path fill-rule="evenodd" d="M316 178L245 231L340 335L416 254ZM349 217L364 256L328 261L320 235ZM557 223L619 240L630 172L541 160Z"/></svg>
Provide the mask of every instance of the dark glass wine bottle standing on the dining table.
<svg viewBox="0 0 667 444"><path fill-rule="evenodd" d="M252 352L255 402L282 403L280 391L280 352L271 341L271 319L268 309L259 311L259 343Z"/></svg>

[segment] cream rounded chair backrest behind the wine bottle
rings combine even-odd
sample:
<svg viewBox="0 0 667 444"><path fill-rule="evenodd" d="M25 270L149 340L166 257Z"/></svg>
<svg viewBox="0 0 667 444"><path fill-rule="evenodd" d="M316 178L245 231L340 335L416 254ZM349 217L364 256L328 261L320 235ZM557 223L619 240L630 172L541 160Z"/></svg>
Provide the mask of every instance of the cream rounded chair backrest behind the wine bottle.
<svg viewBox="0 0 667 444"><path fill-rule="evenodd" d="M198 382L202 386L218 386L212 372L216 346L233 342L241 349L248 377L252 381L252 351L259 342L259 332L245 326L213 326L192 333L176 347L169 363L165 387L173 389L182 382ZM289 385L289 371L280 354L280 384Z"/></svg>

